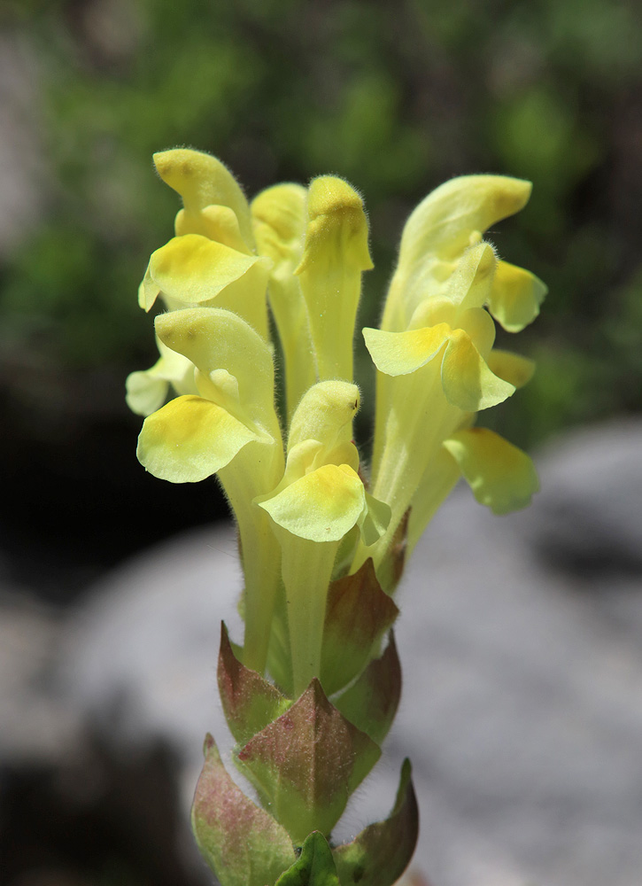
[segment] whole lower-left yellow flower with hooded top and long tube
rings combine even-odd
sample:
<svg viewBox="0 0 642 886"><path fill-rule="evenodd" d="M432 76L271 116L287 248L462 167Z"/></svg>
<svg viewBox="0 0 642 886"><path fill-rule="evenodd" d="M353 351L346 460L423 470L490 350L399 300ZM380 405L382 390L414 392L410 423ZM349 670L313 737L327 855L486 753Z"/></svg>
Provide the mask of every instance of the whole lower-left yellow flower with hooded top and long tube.
<svg viewBox="0 0 642 886"><path fill-rule="evenodd" d="M267 516L251 501L274 488L283 472L272 355L248 323L215 307L159 315L156 332L194 365L198 395L170 400L145 419L138 459L172 483L218 474L247 555L246 664L262 671L279 565Z"/></svg>

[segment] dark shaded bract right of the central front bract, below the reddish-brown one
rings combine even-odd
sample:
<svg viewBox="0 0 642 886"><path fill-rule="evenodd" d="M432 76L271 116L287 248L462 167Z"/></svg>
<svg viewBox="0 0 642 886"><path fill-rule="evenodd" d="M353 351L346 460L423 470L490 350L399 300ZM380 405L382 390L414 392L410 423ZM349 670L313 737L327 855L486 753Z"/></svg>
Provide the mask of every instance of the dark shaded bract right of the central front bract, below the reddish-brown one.
<svg viewBox="0 0 642 886"><path fill-rule="evenodd" d="M401 665L394 634L383 656L368 664L351 688L336 700L344 717L381 744L388 734L401 697Z"/></svg>

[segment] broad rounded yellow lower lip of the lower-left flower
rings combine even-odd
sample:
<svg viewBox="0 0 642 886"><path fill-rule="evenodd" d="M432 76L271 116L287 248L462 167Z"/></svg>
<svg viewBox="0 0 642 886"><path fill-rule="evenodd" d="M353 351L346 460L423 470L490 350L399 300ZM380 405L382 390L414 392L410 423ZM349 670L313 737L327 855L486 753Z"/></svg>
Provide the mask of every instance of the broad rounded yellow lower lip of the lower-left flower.
<svg viewBox="0 0 642 886"><path fill-rule="evenodd" d="M154 477L196 483L225 467L255 439L257 435L225 409L184 396L145 419L136 455Z"/></svg>

